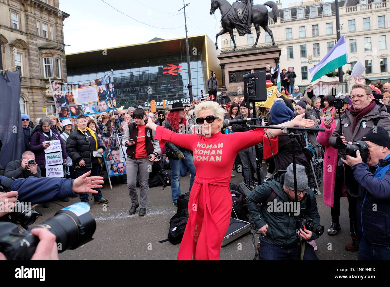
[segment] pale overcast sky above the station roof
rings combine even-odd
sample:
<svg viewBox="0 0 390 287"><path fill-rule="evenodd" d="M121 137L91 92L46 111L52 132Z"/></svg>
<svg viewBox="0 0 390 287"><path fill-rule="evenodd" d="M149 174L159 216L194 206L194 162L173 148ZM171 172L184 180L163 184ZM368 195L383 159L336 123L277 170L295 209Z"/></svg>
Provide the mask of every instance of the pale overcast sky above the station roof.
<svg viewBox="0 0 390 287"><path fill-rule="evenodd" d="M184 1L190 3L186 7L188 36L207 34L214 41L220 30L219 9L210 15L210 0ZM254 4L265 2L254 0ZM282 0L283 8L288 7L289 2L295 1ZM178 12L181 7L183 0L61 0L60 9L71 15L64 21L64 42L70 45L65 48L65 53L144 43L154 37L184 37L183 10Z"/></svg>

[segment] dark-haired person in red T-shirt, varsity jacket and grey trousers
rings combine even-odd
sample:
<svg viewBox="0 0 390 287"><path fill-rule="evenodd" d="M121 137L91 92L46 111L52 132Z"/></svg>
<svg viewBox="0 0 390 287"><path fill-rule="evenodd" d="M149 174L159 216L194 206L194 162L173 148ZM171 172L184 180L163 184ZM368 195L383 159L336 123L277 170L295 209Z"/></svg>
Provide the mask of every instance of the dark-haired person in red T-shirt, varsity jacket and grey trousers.
<svg viewBox="0 0 390 287"><path fill-rule="evenodd" d="M140 207L138 216L146 215L147 194L149 191L149 168L154 161L158 161L161 153L158 141L154 139L154 131L146 128L145 111L137 108L133 112L134 121L126 128L122 144L127 146L126 154L126 176L129 196L131 198L131 208L129 214L135 214ZM137 173L140 176L140 201L137 195Z"/></svg>

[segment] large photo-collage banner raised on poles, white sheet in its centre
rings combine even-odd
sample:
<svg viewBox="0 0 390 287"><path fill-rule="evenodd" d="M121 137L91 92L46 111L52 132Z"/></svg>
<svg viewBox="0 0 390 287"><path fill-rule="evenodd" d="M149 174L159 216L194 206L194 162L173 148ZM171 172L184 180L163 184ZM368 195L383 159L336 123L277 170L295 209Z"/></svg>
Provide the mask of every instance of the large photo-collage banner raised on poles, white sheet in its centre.
<svg viewBox="0 0 390 287"><path fill-rule="evenodd" d="M50 81L57 115L60 120L109 112L117 108L113 71L85 83Z"/></svg>

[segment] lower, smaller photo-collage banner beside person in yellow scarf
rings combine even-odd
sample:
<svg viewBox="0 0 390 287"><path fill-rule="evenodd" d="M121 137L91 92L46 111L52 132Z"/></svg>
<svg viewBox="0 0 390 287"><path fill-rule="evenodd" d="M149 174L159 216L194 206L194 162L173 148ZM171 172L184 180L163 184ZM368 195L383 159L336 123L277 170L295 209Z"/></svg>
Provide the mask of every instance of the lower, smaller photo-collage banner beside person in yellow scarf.
<svg viewBox="0 0 390 287"><path fill-rule="evenodd" d="M122 141L123 137L119 137ZM106 163L108 177L126 174L125 157L122 154L121 147L117 139L111 137L102 137L100 139L106 147L104 160Z"/></svg>

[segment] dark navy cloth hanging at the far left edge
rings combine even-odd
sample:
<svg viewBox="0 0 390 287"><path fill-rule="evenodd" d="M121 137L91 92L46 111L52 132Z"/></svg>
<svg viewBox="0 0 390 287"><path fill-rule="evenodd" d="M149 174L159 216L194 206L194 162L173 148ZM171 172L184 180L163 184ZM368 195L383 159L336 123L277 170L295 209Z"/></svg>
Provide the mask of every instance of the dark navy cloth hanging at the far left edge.
<svg viewBox="0 0 390 287"><path fill-rule="evenodd" d="M0 139L3 147L0 152L0 164L21 159L25 151L23 128L20 114L20 77L19 72L6 71L0 75Z"/></svg>

